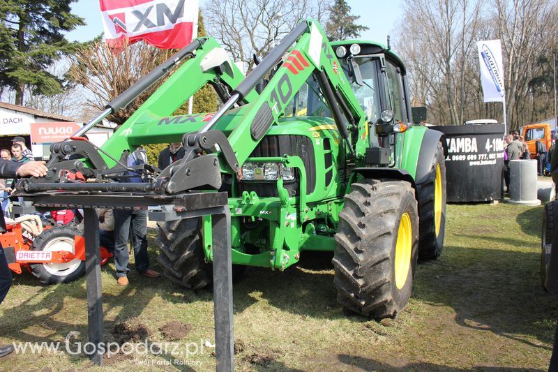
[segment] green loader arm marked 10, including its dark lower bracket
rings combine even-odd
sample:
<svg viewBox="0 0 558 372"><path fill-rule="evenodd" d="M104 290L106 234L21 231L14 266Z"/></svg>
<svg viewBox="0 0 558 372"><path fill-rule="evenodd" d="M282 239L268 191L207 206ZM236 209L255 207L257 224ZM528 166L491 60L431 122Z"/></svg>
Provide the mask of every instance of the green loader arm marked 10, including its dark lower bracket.
<svg viewBox="0 0 558 372"><path fill-rule="evenodd" d="M280 61L282 64L264 90L248 107L243 107L232 133L228 137L216 133L215 126L225 113L254 91L256 84ZM221 172L241 174L241 165L269 128L278 123L285 107L312 74L319 82L341 137L354 154L356 140L349 135L345 123L363 128L365 114L338 66L340 64L319 24L313 20L301 22L232 91L231 98L206 125L197 132L184 135L186 155L160 174L156 188L171 194L197 187L219 188ZM212 154L213 148L218 149L215 154Z"/></svg>

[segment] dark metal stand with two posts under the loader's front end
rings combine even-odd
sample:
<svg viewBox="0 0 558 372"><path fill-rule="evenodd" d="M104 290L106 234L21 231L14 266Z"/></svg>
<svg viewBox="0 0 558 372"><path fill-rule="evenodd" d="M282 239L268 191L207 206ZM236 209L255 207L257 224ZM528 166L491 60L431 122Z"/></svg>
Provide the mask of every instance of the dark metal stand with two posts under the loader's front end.
<svg viewBox="0 0 558 372"><path fill-rule="evenodd" d="M213 303L215 306L215 343L217 371L234 369L234 332L232 316L231 217L227 193L186 193L181 195L130 195L122 193L41 193L23 195L24 202L14 207L17 214L52 209L84 209L85 275L89 342L103 342L103 295L100 280L99 224L95 208L146 209L152 221L213 216ZM27 205L26 205L27 204ZM99 348L96 348L99 350ZM89 355L92 362L103 365L103 355Z"/></svg>

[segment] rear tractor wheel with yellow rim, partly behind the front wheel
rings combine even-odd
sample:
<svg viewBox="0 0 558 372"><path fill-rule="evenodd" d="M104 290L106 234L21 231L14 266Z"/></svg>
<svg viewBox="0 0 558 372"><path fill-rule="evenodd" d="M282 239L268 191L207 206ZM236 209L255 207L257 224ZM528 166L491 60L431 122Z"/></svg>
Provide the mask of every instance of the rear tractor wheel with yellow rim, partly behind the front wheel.
<svg viewBox="0 0 558 372"><path fill-rule="evenodd" d="M446 162L442 142L438 142L428 179L416 189L420 212L418 258L436 260L442 254L446 230Z"/></svg>

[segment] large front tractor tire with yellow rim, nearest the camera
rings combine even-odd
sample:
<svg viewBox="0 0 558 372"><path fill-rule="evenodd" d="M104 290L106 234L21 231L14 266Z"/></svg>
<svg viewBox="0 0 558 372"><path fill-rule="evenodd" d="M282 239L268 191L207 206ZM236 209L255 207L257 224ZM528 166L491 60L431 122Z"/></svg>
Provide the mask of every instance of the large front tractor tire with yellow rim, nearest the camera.
<svg viewBox="0 0 558 372"><path fill-rule="evenodd" d="M335 234L338 302L372 318L400 313L411 297L417 246L418 211L409 182L352 184Z"/></svg>

